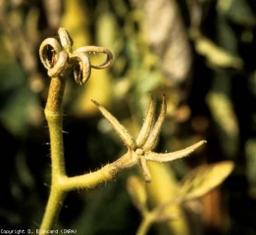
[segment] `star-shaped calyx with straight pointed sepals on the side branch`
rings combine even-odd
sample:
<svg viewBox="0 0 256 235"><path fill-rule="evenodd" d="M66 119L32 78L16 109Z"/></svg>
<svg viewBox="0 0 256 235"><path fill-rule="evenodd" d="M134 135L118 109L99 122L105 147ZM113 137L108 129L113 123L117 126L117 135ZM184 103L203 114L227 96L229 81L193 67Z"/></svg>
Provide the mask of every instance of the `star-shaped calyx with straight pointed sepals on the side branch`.
<svg viewBox="0 0 256 235"><path fill-rule="evenodd" d="M92 102L99 108L101 114L112 124L114 129L118 132L119 136L124 141L125 145L128 147L128 156L130 158L128 166L139 163L142 167L146 182L151 181L151 175L147 166L147 161L159 163L171 162L176 159L188 156L195 149L206 143L205 140L202 140L188 148L173 153L158 154L152 152L166 116L167 105L165 95L163 95L160 115L155 124L153 124L153 120L156 105L151 95L146 118L136 139L134 139L133 136L128 132L128 129L122 125L117 118L113 117L104 107L102 107L94 100L92 100Z"/></svg>

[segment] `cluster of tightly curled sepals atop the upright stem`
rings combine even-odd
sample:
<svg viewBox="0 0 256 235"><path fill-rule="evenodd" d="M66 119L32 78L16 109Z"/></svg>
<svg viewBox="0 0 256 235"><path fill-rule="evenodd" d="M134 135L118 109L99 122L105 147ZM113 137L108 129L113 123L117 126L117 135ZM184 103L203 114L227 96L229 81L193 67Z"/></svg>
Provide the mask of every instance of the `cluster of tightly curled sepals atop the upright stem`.
<svg viewBox="0 0 256 235"><path fill-rule="evenodd" d="M108 67L112 60L112 53L98 46L83 46L73 51L73 39L69 32L60 27L58 38L47 38L40 45L39 56L43 66L48 70L48 75L64 76L67 72L74 71L74 77L77 84L85 83L91 69L101 70ZM90 63L89 53L103 53L107 56L106 61L99 66L93 66Z"/></svg>

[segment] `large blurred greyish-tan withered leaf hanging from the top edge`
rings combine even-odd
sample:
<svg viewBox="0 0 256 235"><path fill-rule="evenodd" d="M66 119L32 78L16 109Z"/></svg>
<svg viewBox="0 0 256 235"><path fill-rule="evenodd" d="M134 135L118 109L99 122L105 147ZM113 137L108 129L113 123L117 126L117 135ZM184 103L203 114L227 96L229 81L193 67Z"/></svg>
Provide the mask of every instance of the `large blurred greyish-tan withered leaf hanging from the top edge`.
<svg viewBox="0 0 256 235"><path fill-rule="evenodd" d="M161 62L161 71L175 83L182 82L191 65L187 34L175 0L131 3L141 11L145 42Z"/></svg>

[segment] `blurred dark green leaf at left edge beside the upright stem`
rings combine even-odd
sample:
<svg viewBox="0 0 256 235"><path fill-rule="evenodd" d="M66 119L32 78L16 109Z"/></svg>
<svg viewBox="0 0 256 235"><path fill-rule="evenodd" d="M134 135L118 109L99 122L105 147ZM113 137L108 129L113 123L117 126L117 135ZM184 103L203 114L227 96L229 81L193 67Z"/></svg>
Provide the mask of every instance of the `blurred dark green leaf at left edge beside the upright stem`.
<svg viewBox="0 0 256 235"><path fill-rule="evenodd" d="M38 126L43 119L37 96L17 63L0 67L0 72L0 119L13 134L25 135L29 125Z"/></svg>

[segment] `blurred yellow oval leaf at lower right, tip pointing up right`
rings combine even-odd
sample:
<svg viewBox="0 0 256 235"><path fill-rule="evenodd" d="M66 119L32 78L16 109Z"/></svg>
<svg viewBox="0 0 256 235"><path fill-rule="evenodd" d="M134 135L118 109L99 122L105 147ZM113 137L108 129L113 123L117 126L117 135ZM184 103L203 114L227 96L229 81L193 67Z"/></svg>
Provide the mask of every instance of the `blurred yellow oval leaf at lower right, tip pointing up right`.
<svg viewBox="0 0 256 235"><path fill-rule="evenodd" d="M231 173L234 164L224 161L201 165L188 173L179 187L179 197L193 200L219 186Z"/></svg>

